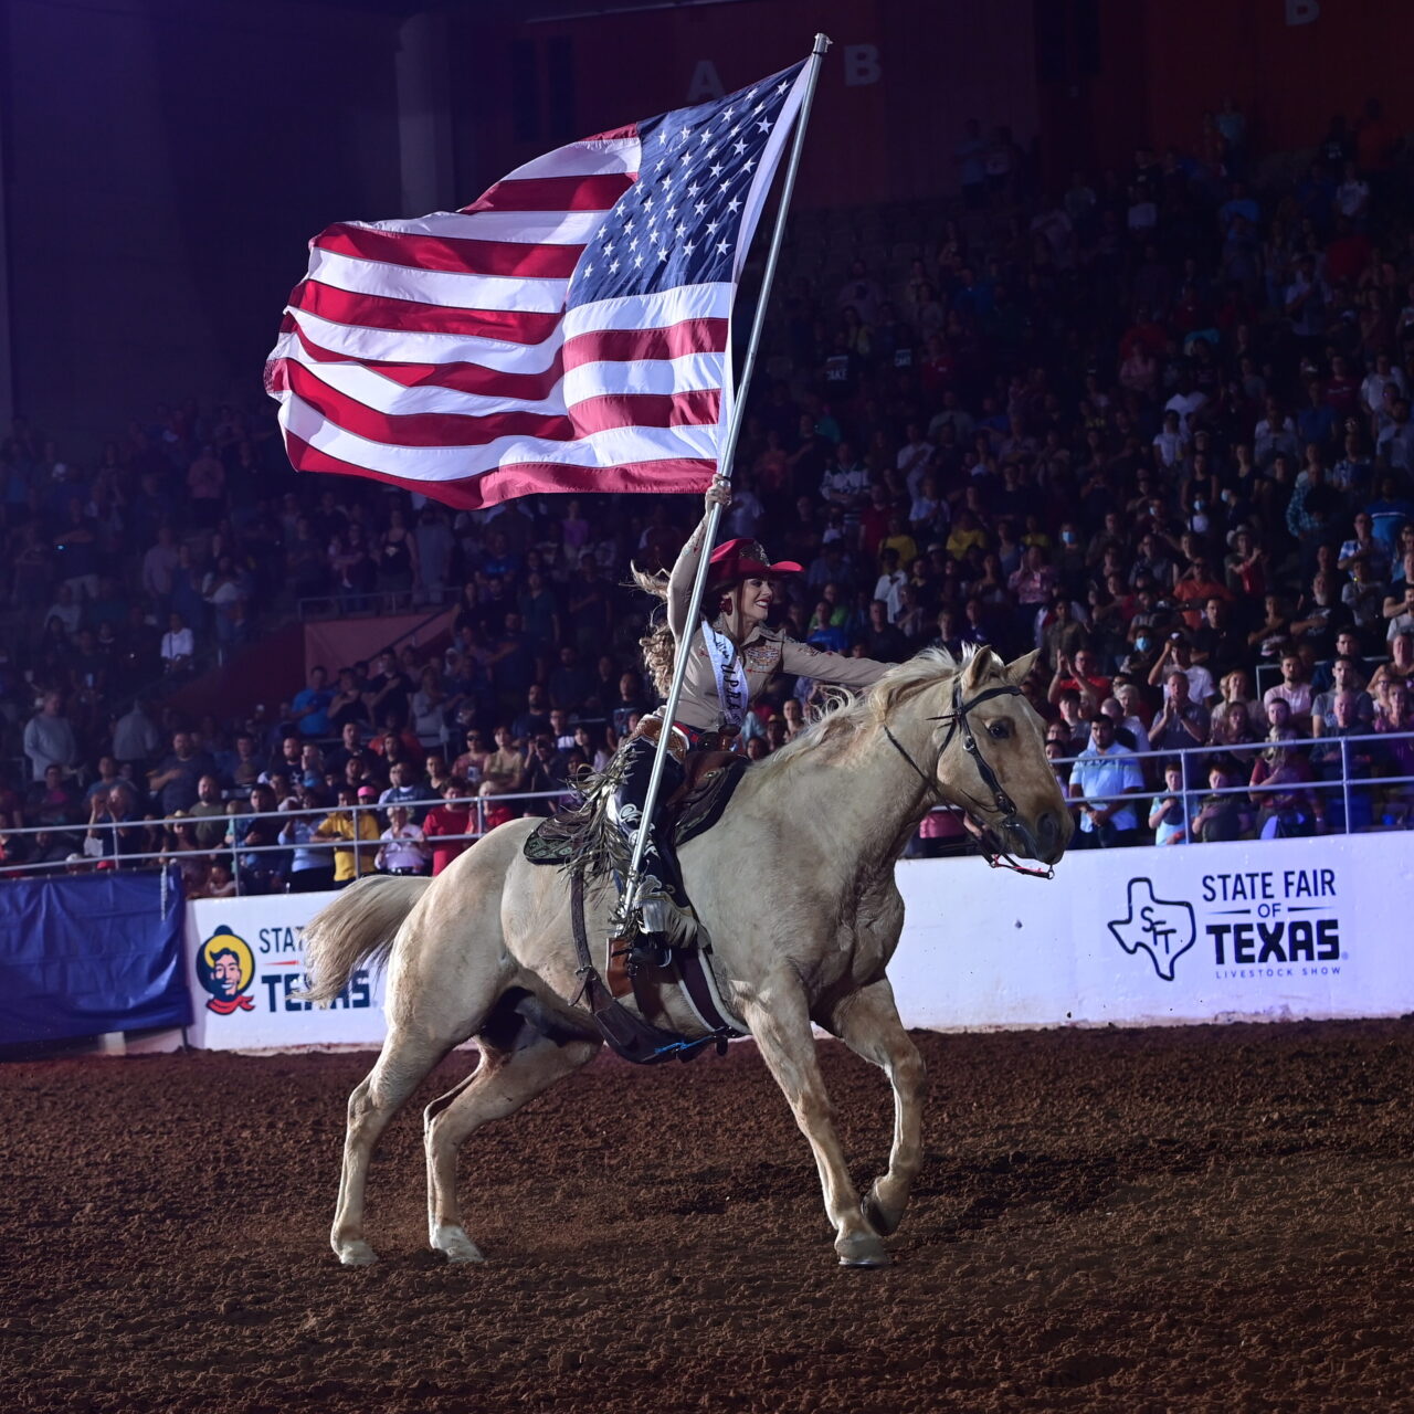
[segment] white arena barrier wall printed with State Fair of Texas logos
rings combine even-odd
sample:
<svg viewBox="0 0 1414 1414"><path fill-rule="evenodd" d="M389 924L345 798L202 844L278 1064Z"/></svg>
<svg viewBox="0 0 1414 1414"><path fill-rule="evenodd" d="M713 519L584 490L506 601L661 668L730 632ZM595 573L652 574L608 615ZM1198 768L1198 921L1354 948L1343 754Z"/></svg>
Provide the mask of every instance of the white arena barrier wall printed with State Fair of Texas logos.
<svg viewBox="0 0 1414 1414"><path fill-rule="evenodd" d="M905 860L889 977L905 1024L936 1029L1400 1015L1414 1011L1411 874L1401 833L1075 851L1051 881ZM382 1041L379 977L355 976L328 1011L290 997L300 930L328 896L187 905L194 1045ZM243 963L245 1004L211 994L222 946Z"/></svg>

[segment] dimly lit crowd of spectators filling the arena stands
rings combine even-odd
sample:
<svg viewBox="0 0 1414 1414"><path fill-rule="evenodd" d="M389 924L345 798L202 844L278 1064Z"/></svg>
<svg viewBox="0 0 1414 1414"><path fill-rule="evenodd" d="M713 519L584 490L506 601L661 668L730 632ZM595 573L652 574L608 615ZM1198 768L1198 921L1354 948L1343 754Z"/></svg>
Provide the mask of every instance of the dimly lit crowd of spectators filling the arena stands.
<svg viewBox="0 0 1414 1414"><path fill-rule="evenodd" d="M978 143L916 239L793 218L725 533L806 566L781 618L819 646L1036 648L1082 847L1406 824L1414 198L1379 105L1297 164L1258 161L1229 106L1063 191ZM440 868L465 847L440 837L549 810L652 706L624 581L700 513L296 481L263 406L160 407L92 465L21 421L0 485L4 863L165 853L215 892ZM288 703L164 706L310 600L455 612L448 642L314 667ZM744 749L812 707L781 680ZM1342 773L1367 782L1349 819L1314 789Z"/></svg>

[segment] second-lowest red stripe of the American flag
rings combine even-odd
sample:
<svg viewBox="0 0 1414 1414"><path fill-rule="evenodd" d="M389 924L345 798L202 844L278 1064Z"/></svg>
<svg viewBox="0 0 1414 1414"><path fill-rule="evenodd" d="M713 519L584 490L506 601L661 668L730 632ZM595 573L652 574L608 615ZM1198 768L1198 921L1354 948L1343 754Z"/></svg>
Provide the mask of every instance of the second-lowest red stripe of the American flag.
<svg viewBox="0 0 1414 1414"><path fill-rule="evenodd" d="M574 441L617 427L710 427L721 410L721 393L604 393L575 403L568 416L546 413L380 413L321 383L291 359L283 378L288 387L335 427L390 447L485 447L498 437L539 437ZM273 372L276 387L281 372Z"/></svg>

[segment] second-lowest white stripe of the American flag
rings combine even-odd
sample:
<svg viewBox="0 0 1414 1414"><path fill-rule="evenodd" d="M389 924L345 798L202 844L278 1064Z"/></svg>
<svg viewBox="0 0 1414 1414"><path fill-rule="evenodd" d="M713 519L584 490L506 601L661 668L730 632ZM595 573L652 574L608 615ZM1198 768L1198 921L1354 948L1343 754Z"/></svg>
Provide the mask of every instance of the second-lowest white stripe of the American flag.
<svg viewBox="0 0 1414 1414"><path fill-rule="evenodd" d="M279 352L277 352L277 356ZM543 399L489 397L455 387L406 387L362 363L312 363L298 361L310 373L345 397L395 417L444 413L485 417L496 413L564 413L588 397L608 395L670 395L721 387L725 362L721 354L687 354L674 359L631 363L585 363L570 369Z"/></svg>

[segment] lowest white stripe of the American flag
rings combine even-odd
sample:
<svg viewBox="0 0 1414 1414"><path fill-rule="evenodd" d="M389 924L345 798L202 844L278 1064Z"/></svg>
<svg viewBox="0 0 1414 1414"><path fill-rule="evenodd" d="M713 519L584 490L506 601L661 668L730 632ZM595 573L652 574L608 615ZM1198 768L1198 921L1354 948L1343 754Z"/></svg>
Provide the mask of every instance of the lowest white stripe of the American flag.
<svg viewBox="0 0 1414 1414"><path fill-rule="evenodd" d="M461 481L523 462L617 467L682 457L713 460L718 434L713 423L706 427L615 427L568 443L498 437L484 447L392 447L337 427L296 393L288 393L280 404L280 426L329 457L409 481Z"/></svg>

